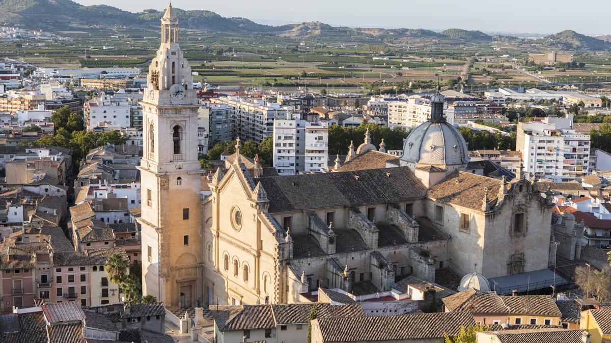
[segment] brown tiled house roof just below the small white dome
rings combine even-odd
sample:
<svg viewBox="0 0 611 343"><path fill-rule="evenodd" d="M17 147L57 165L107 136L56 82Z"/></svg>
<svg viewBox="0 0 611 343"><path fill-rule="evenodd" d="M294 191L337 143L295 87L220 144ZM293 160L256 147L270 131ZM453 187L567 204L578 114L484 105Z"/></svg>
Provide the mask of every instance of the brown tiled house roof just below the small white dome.
<svg viewBox="0 0 611 343"><path fill-rule="evenodd" d="M472 313L508 313L507 306L496 292L475 292L474 289L449 295L442 299L448 311Z"/></svg>

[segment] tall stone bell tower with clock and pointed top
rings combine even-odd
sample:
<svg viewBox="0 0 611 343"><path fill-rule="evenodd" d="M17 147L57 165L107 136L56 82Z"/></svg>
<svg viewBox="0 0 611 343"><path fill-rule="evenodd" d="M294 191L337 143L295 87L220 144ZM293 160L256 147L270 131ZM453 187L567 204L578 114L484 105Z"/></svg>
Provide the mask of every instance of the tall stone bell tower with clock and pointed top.
<svg viewBox="0 0 611 343"><path fill-rule="evenodd" d="M172 4L161 18L161 45L148 70L139 166L142 293L169 308L192 307L203 299L199 104L191 67L178 45Z"/></svg>

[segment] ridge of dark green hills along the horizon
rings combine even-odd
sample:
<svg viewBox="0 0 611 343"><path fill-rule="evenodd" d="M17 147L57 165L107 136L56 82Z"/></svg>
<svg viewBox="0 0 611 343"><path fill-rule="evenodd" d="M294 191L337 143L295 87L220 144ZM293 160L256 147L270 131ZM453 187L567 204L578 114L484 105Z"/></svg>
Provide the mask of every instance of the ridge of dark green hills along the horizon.
<svg viewBox="0 0 611 343"><path fill-rule="evenodd" d="M273 33L280 37L397 37L397 38L450 38L459 42L510 42L522 38L489 35L465 29L446 29L436 32L426 29L381 29L373 27L331 26L320 21L301 24L271 26L258 24L241 17L224 17L208 10L174 9L180 26L210 32ZM0 0L0 23L18 24L32 29L65 29L78 26L154 27L159 25L163 11L145 9L128 12L109 5L81 5L72 0ZM611 49L609 36L590 37L565 30L547 35L533 42L555 49ZM601 39L602 38L602 39Z"/></svg>

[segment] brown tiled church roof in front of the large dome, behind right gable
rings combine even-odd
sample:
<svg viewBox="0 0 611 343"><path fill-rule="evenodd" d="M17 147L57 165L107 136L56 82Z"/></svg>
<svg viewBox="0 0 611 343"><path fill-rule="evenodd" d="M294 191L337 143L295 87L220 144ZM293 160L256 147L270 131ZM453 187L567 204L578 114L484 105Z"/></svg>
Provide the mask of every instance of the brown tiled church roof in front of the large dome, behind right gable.
<svg viewBox="0 0 611 343"><path fill-rule="evenodd" d="M488 200L499 197L501 181L486 176L454 171L443 182L428 190L428 197L440 203L481 211L485 194Z"/></svg>

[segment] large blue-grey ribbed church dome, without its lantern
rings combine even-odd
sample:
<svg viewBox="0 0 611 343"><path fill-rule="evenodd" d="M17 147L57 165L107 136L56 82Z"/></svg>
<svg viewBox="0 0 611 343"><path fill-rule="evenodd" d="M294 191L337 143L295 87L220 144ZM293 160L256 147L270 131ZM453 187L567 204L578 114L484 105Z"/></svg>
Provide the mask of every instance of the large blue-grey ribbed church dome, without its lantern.
<svg viewBox="0 0 611 343"><path fill-rule="evenodd" d="M409 133L401 161L427 165L466 164L469 162L467 143L447 121L429 120Z"/></svg>

